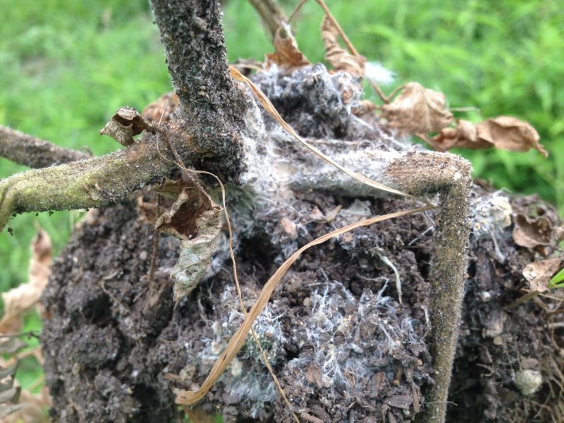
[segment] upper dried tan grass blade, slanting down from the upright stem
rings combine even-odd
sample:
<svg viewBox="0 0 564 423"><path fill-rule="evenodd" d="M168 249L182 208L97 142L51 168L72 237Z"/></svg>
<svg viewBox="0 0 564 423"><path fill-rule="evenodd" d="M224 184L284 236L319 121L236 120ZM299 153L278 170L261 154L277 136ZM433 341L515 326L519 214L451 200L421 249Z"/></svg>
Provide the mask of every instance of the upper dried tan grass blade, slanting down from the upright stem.
<svg viewBox="0 0 564 423"><path fill-rule="evenodd" d="M272 117L274 117L274 119L276 119L276 121L278 123L280 123L280 125L282 125L282 128L284 128L286 130L286 132L288 132L296 140L301 142L302 145L305 145L305 147L307 147L312 152L317 154L317 156L319 156L321 159L324 159L324 161L326 161L327 163L335 166L336 168L338 168L340 171L343 171L344 173L346 173L351 178L358 180L359 182L362 182L366 185L369 185L372 188L376 188L377 190L382 190L382 191L386 191L386 192L391 192L391 193L397 194L397 195L402 195L403 197L413 198L415 200L419 200L419 201L422 201L426 204L429 204L429 202L427 200L424 200L424 199L419 198L419 197L415 197L415 195L407 194L407 192L403 192L403 191L400 191L400 190L396 190L394 188L390 188L390 187L384 185L383 183L379 183L379 182L376 182L375 180L369 179L366 176L361 175L360 173L357 173L355 171L350 171L348 168L341 166L341 164L338 164L336 161L331 159L331 157L328 157L325 154L323 154L316 147L309 145L302 137L300 137L300 135L298 135L298 133L295 132L295 130L290 125L288 125L288 123L286 123L286 121L284 121L282 116L280 116L280 114L278 114L278 111L276 110L274 105L266 97L264 92L262 92L259 89L259 87L257 87L257 85L252 83L248 78L246 78L242 73L240 73L237 70L237 68L234 68L233 66L229 66L229 72L231 73L231 78L233 78L234 80L238 80L240 82L245 82L245 84L247 84L247 86L250 88L252 93L255 94L255 97L257 97L257 99L262 104L262 106L264 106L264 109L266 109L266 111L268 111L269 114L271 114Z"/></svg>

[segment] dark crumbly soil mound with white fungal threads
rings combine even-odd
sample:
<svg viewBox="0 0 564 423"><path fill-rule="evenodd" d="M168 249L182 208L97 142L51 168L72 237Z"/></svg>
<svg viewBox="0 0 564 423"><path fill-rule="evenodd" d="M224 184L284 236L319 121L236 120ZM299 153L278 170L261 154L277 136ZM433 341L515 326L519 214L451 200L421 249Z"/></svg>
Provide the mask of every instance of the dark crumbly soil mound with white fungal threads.
<svg viewBox="0 0 564 423"><path fill-rule="evenodd" d="M346 91L349 80L331 79L322 68L313 71L315 78L300 76L307 80L301 89L292 78L271 75L274 80L265 76L261 83L290 124L304 136L383 136L367 130L351 117L351 104L334 97L336 90ZM478 185L474 191L474 209L486 212L474 216L447 420L558 421L564 414L564 296L539 295L508 309L527 288L523 267L558 252L550 243L515 245L512 226L503 223L509 215L498 219L489 207L496 194ZM42 348L56 421L180 419L175 388L200 386L243 321L225 243L197 289L175 304L169 276L180 243L154 233L147 204L157 202L155 194L137 195L145 207L132 197L90 212L54 264L43 298L48 318ZM237 214L239 203L228 207ZM543 207L551 210L545 214L556 227L556 213L539 204L525 197L512 206L532 207L537 214ZM403 207L397 200L311 190L293 192L282 207L254 209L247 221L234 216L245 307L298 247L347 223ZM433 228L434 214L426 212L340 235L307 250L276 288L255 331L302 420L408 422L422 410L434 383L426 343ZM527 388L537 391L524 393ZM197 409L222 415L225 422L291 421L251 337ZM206 421L198 416L192 420Z"/></svg>

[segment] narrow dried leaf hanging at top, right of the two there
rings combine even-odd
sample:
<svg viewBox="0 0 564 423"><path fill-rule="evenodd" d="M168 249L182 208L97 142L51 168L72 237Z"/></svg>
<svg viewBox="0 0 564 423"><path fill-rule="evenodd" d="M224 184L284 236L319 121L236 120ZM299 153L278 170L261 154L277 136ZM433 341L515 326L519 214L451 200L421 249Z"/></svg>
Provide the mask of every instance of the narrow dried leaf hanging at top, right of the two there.
<svg viewBox="0 0 564 423"><path fill-rule="evenodd" d="M364 76L363 56L353 56L348 53L338 42L339 33L333 21L324 16L321 22L321 39L325 44L325 59L331 63L336 71L345 71L350 75L362 78Z"/></svg>

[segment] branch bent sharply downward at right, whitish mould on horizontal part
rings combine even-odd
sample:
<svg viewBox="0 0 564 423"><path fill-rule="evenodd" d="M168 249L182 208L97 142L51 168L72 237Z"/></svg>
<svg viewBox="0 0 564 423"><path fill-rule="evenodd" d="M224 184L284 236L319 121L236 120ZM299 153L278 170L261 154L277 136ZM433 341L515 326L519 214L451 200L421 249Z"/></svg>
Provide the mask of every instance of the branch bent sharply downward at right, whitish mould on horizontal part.
<svg viewBox="0 0 564 423"><path fill-rule="evenodd" d="M470 238L470 183L472 166L454 154L437 152L339 151L331 157L353 171L414 195L439 193L436 240L429 272L431 293L430 352L435 384L426 394L421 421L444 422L448 387L458 340L458 324L467 269ZM309 157L286 157L288 169L279 178L294 190L317 189L352 197L381 196L366 185L352 182L335 168ZM273 166L274 167L274 166Z"/></svg>

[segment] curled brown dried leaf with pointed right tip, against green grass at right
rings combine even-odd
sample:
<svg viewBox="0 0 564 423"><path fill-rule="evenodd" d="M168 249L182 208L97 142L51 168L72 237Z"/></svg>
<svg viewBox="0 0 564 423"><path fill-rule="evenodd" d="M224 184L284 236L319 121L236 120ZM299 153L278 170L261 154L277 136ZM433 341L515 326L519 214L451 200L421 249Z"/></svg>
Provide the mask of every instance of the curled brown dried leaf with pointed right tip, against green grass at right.
<svg viewBox="0 0 564 423"><path fill-rule="evenodd" d="M526 152L534 148L544 157L548 157L546 149L539 144L539 133L528 122L511 116L498 116L477 123L476 128L478 138L496 148L512 152Z"/></svg>

